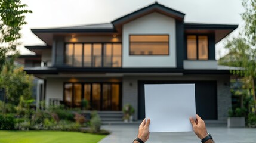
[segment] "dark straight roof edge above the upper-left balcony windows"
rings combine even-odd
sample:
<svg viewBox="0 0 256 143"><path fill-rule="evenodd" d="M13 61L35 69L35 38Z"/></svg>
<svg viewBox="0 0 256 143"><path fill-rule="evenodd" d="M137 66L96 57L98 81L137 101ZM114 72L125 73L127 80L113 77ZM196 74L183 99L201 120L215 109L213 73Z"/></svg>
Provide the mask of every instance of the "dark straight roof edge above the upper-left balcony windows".
<svg viewBox="0 0 256 143"><path fill-rule="evenodd" d="M31 29L33 33L115 33L115 29Z"/></svg>

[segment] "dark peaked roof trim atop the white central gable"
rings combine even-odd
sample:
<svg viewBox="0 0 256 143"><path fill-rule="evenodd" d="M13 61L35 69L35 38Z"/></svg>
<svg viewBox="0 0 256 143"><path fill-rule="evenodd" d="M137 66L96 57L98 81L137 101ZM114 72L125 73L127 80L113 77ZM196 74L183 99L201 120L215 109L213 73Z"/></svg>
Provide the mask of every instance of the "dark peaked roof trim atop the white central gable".
<svg viewBox="0 0 256 143"><path fill-rule="evenodd" d="M153 11L161 11L161 13L164 13L166 15L171 15L172 17L177 18L178 20L183 20L185 16L185 14L181 13L180 11L173 10L172 8L165 7L164 5L161 5L161 4L158 4L158 2L155 2L155 4L149 5L147 7L141 8L140 10L134 11L133 13L120 17L112 21L112 23L113 25L123 24L126 21L133 20L135 18L140 17L141 15L151 13Z"/></svg>

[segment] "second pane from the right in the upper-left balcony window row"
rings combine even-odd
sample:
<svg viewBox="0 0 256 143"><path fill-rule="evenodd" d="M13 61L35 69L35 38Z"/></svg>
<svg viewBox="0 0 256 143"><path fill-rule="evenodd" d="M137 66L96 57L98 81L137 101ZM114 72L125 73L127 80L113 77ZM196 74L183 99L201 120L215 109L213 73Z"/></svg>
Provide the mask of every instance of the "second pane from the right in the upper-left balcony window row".
<svg viewBox="0 0 256 143"><path fill-rule="evenodd" d="M104 67L111 67L112 65L112 44L104 44Z"/></svg>

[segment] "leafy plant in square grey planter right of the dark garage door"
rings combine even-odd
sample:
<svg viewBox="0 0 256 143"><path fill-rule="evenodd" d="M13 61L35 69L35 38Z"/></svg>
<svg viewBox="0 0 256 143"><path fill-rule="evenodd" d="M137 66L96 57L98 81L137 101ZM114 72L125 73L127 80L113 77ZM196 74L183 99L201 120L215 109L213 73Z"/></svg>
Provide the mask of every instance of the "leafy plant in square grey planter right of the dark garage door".
<svg viewBox="0 0 256 143"><path fill-rule="evenodd" d="M245 127L246 108L236 108L235 111L230 108L229 118L227 119L228 127Z"/></svg>

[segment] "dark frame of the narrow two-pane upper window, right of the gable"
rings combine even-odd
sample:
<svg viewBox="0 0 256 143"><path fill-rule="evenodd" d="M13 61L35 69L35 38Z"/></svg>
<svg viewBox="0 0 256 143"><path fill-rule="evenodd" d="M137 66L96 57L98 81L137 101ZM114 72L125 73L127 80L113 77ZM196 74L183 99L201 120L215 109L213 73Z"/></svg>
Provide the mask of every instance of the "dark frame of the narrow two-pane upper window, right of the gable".
<svg viewBox="0 0 256 143"><path fill-rule="evenodd" d="M196 36L196 59L189 59L187 57L187 36ZM198 55L199 55L199 50L198 50L198 36L207 36L207 42L208 42L208 59L199 59ZM207 34L186 34L186 59L187 60L201 60L201 61L208 61L209 60L209 35Z"/></svg>

